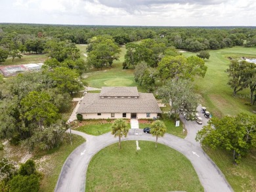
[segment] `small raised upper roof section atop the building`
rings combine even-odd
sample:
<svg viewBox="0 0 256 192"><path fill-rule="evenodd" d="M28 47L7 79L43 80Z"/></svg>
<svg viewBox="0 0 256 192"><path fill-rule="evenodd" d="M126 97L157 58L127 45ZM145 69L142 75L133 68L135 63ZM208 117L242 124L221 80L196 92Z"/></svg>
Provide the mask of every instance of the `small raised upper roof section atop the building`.
<svg viewBox="0 0 256 192"><path fill-rule="evenodd" d="M136 86L102 86L100 97L139 97Z"/></svg>

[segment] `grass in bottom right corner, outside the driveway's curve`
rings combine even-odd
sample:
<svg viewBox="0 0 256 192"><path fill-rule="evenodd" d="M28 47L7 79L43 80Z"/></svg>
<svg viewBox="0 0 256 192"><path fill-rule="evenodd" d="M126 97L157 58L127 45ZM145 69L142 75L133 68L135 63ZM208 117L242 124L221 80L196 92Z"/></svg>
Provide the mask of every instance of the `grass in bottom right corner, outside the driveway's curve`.
<svg viewBox="0 0 256 192"><path fill-rule="evenodd" d="M232 152L208 147L203 149L221 169L234 191L256 191L256 151L247 157L242 157L241 163L234 165Z"/></svg>

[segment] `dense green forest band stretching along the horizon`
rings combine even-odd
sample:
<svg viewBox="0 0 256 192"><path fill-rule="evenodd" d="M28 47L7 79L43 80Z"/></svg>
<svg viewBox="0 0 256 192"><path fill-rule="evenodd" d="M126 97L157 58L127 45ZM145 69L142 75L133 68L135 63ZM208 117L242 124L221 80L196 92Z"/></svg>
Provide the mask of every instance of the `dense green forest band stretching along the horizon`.
<svg viewBox="0 0 256 192"><path fill-rule="evenodd" d="M190 51L219 49L233 46L256 46L255 28L168 28L128 26L58 26L39 24L0 24L0 44L10 48L14 42L19 50L42 52L36 44L49 39L87 44L96 35L111 35L119 45L142 39L163 39L167 47L174 46ZM19 45L18 45L19 44ZM33 44L33 46L31 45ZM22 46L21 46L22 45ZM33 49L33 50L32 50Z"/></svg>

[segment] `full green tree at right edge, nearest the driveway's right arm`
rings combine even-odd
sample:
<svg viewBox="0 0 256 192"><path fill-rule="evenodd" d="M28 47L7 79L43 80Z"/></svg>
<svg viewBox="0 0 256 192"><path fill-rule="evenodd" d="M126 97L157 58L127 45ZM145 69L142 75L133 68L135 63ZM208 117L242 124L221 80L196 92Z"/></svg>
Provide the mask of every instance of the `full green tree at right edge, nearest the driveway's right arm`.
<svg viewBox="0 0 256 192"><path fill-rule="evenodd" d="M251 149L256 149L256 116L240 113L236 117L213 118L198 132L196 140L213 149L232 151L234 163L239 163Z"/></svg>

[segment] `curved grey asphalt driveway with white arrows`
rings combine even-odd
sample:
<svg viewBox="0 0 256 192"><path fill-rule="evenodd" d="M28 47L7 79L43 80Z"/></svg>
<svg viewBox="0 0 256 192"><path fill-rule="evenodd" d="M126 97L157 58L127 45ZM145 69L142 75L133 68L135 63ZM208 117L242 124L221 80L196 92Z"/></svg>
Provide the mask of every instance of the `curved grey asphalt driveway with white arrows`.
<svg viewBox="0 0 256 192"><path fill-rule="evenodd" d="M203 119L203 121L203 124L205 124L206 119ZM190 160L205 191L233 191L219 168L203 152L200 144L194 140L196 132L202 128L202 125L197 125L195 121L188 121L186 122L186 128L188 130L188 136L185 139L171 134L165 134L163 138L158 139L159 143L176 149ZM64 163L55 191L85 191L86 171L91 158L98 151L104 149L104 147L118 142L118 139L114 138L110 133L101 136L90 136L75 130L72 130L72 133L83 136L87 142L77 147ZM135 134L135 130L130 129L127 138L123 138L122 140L146 140L155 142L156 138L151 134L145 134L141 129L139 130L139 134Z"/></svg>

